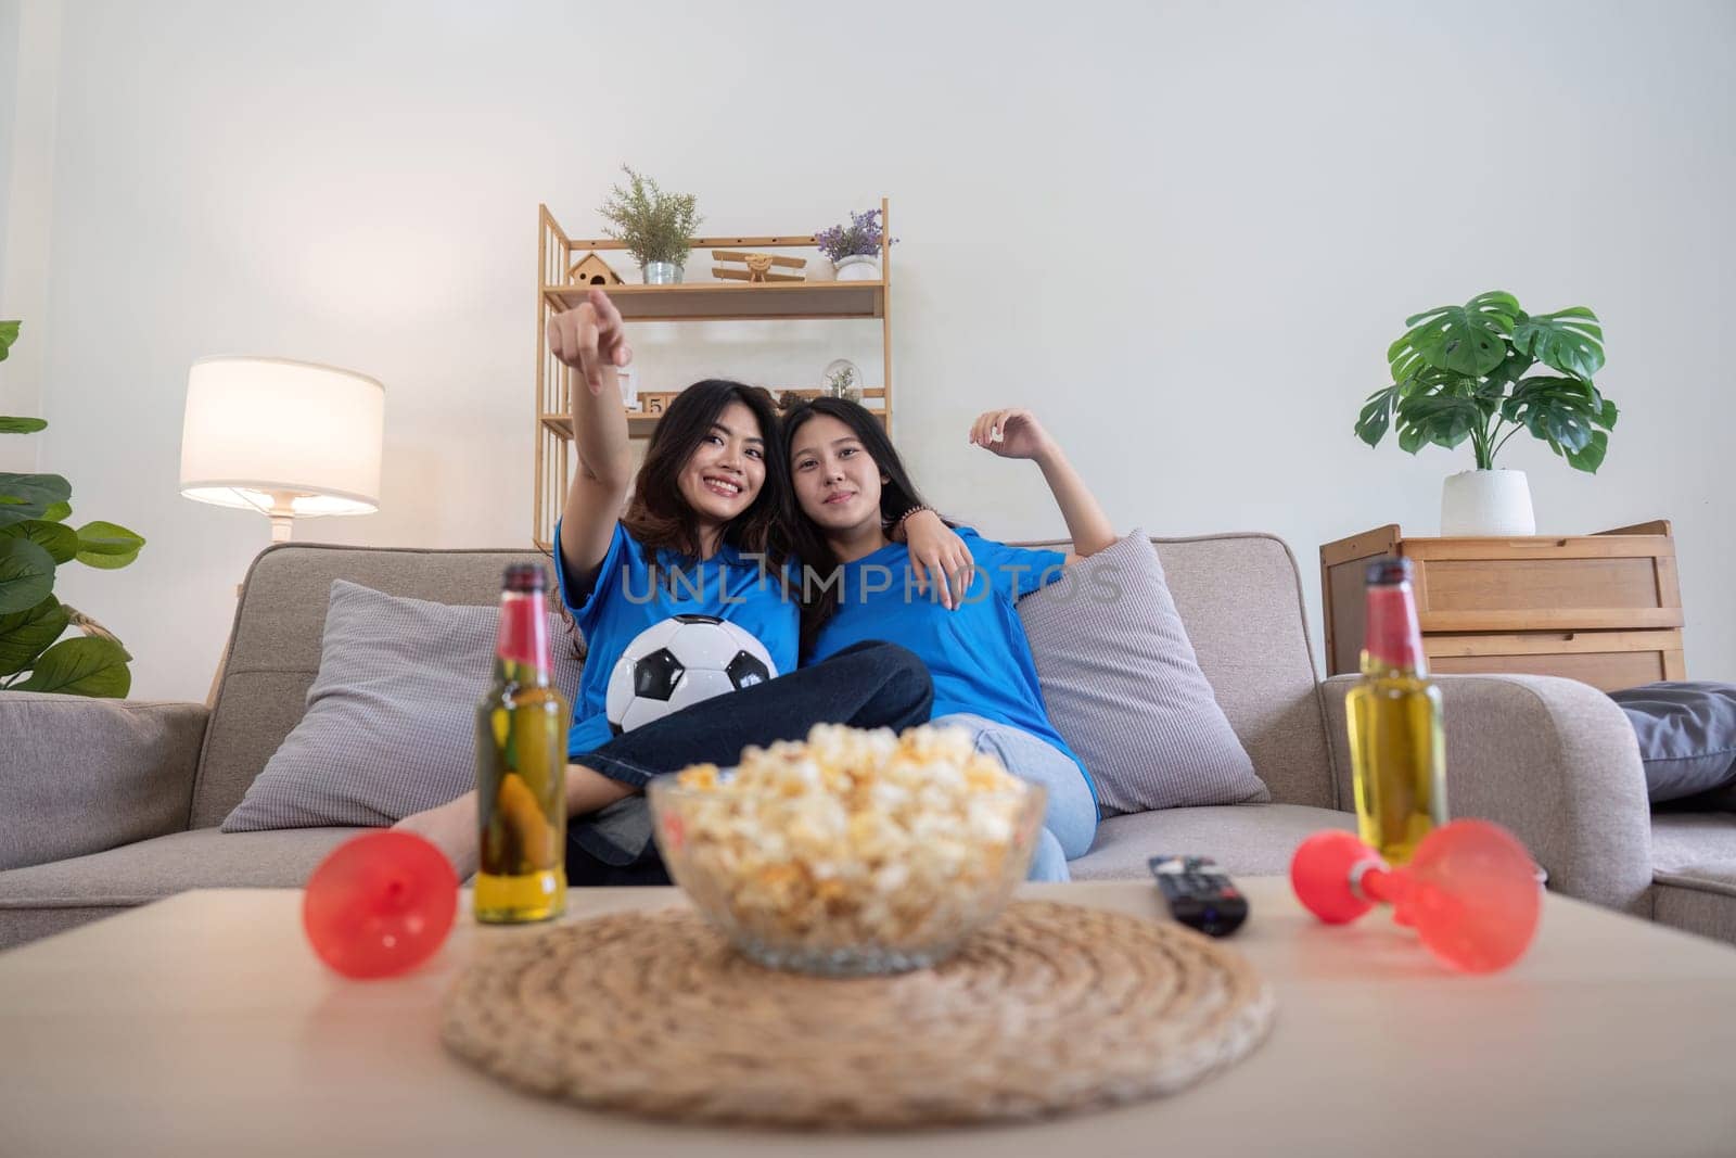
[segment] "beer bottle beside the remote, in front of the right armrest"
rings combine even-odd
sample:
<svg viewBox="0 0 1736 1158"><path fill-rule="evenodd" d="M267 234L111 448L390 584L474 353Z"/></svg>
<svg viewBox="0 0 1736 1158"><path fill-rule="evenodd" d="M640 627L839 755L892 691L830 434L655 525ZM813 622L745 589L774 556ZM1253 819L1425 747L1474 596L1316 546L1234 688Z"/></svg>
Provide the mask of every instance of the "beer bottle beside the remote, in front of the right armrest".
<svg viewBox="0 0 1736 1158"><path fill-rule="evenodd" d="M1345 696L1356 825L1389 865L1403 865L1446 823L1441 689L1429 679L1410 559L1368 564L1363 679Z"/></svg>

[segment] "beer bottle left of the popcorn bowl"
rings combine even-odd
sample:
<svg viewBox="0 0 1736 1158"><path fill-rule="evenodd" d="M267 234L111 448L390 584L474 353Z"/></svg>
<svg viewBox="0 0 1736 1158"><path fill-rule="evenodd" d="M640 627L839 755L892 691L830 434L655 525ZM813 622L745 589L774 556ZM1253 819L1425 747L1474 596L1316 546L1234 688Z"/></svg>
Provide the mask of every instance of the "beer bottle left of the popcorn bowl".
<svg viewBox="0 0 1736 1158"><path fill-rule="evenodd" d="M566 734L573 708L554 686L543 587L540 566L507 568L495 679L476 710L479 922L549 920L566 910Z"/></svg>

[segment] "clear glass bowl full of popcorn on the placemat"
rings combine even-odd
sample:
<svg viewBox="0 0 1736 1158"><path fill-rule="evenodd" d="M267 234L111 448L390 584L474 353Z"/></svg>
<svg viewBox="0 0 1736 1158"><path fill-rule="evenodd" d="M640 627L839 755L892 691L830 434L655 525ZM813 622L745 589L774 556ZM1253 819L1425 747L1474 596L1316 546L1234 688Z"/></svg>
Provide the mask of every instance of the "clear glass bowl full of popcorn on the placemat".
<svg viewBox="0 0 1736 1158"><path fill-rule="evenodd" d="M1007 906L1043 790L969 733L819 724L649 786L663 863L762 965L828 976L922 969Z"/></svg>

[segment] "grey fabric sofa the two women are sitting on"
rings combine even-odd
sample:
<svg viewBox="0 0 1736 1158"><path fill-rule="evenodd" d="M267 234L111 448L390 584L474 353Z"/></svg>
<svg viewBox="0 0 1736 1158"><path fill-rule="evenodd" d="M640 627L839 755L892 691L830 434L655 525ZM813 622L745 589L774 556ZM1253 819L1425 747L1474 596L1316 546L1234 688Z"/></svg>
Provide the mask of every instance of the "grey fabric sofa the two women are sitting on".
<svg viewBox="0 0 1736 1158"><path fill-rule="evenodd" d="M1104 821L1076 878L1141 878L1158 851L1283 873L1295 845L1354 828L1344 726L1352 677L1319 682L1302 589L1271 535L1158 538L1200 665L1272 804ZM222 682L203 703L0 694L0 946L182 889L295 887L354 830L220 833L306 708L335 578L488 604L510 550L285 543L253 561ZM1448 800L1514 830L1568 896L1736 943L1736 816L1653 816L1627 717L1533 675L1441 677Z"/></svg>

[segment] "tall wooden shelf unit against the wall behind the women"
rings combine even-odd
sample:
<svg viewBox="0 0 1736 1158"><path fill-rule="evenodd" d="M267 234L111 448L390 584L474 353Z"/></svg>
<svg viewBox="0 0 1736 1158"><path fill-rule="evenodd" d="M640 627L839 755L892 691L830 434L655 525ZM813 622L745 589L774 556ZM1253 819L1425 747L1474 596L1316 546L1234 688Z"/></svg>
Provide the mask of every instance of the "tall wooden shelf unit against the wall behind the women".
<svg viewBox="0 0 1736 1158"><path fill-rule="evenodd" d="M880 198L882 236L891 233L891 203ZM698 269L700 250L778 250L814 248L812 234L776 234L759 238L693 238L689 269ZM547 325L554 314L585 300L590 285L580 266L599 278L609 276L589 260L604 250L625 250L613 238L575 240L566 236L547 205L536 207L536 455L535 509L531 542L542 550L554 547L554 523L571 484L568 448L573 439L571 370L549 351ZM811 260L825 260L811 259ZM783 262L779 269L793 269ZM609 299L628 321L800 321L800 319L870 319L880 323L880 385L863 391L870 408L878 401L880 422L892 427L892 253L880 247L878 281L684 281L681 285L606 285ZM741 373L738 368L720 368ZM816 373L818 377L818 373ZM651 384L641 384L646 387ZM656 384L663 385L663 384ZM785 391L773 391L783 394ZM819 391L795 391L814 396ZM642 391L642 398L668 398L668 391ZM627 411L632 438L651 438L661 413Z"/></svg>

